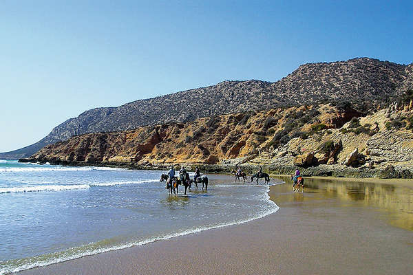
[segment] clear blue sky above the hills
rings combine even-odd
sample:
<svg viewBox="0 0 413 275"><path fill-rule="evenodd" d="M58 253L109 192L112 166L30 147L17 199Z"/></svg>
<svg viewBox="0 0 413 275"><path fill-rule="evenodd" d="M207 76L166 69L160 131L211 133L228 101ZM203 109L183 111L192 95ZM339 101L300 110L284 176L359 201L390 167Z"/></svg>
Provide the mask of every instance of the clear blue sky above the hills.
<svg viewBox="0 0 413 275"><path fill-rule="evenodd" d="M0 1L0 152L87 109L299 65L413 63L413 1Z"/></svg>

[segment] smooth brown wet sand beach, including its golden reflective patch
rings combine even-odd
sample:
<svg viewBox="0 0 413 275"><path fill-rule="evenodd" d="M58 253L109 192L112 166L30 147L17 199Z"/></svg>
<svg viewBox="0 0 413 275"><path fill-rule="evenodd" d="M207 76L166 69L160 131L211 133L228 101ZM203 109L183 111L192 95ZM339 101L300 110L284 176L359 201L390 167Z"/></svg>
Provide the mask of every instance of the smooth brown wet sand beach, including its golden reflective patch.
<svg viewBox="0 0 413 275"><path fill-rule="evenodd" d="M413 274L413 187L306 185L271 186L262 219L19 274Z"/></svg>

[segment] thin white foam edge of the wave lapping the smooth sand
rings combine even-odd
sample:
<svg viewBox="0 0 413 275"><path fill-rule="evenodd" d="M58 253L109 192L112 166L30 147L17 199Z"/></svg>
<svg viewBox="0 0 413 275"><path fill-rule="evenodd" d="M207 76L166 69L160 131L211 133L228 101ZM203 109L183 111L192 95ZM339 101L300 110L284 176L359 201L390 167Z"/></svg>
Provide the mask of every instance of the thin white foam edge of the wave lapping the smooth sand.
<svg viewBox="0 0 413 275"><path fill-rule="evenodd" d="M277 184L279 184L279 183L277 183ZM275 185L275 184L271 184L271 185ZM239 220L239 221L229 221L229 222L221 223L221 224L218 224L218 225L207 225L207 226L202 226L202 227L198 227L198 228L182 230L180 232L173 232L171 234L165 234L163 236L152 237L152 238L149 238L149 239L145 239L143 241L122 243L120 245L113 245L113 246L107 247L107 248L96 248L96 245L98 245L99 243L91 243L89 245L85 245L85 247L72 248L72 249L67 250L65 252L56 252L56 253L53 253L53 254L48 254L48 255L43 255L43 256L36 256L34 258L22 259L25 262L25 263L23 263L23 265L19 265L19 266L9 265L8 267L6 267L6 265L5 265L3 270L0 270L0 274L20 272L22 270L29 270L29 269L32 269L34 267L42 267L42 266L46 266L46 265L52 265L54 263L61 263L63 261L70 261L70 260L73 260L73 259L78 259L78 258L81 258L83 256L90 256L90 255L100 254L100 253L109 252L109 251L113 251L113 250L121 250L121 249L125 249L125 248L131 248L133 246L145 245L147 243L153 243L155 241L162 241L162 240L172 239L172 238L175 238L177 236L184 236L184 235L187 235L187 234L195 234L195 233L202 232L202 231L205 231L205 230L211 230L211 229L216 229L216 228L224 228L224 227L229 226L229 225L237 225L237 224L242 224L242 223L248 223L249 221L254 221L256 219L261 219L261 218L266 217L269 214L273 214L273 213L277 212L277 210L279 210L279 206L277 206L277 204L274 201L271 201L270 196L268 195L268 192L270 190L271 185L266 186L266 188L267 188L266 192L264 193L264 195L262 197L263 200L270 203L270 207L269 207L269 209L266 209L266 211L261 212L260 214L257 214L257 216L255 216L255 217L251 217L251 218L248 218L248 219L242 219L242 220ZM102 241L101 243L105 243L105 241ZM49 259L46 259L45 256L49 256L49 257L47 257ZM6 261L6 263L7 263L7 261Z"/></svg>

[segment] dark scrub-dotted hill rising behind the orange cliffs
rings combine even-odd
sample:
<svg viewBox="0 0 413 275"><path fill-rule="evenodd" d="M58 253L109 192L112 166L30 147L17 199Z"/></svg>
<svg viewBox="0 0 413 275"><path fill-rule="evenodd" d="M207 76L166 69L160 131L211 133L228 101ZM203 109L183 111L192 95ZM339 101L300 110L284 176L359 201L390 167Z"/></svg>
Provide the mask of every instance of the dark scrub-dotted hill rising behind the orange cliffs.
<svg viewBox="0 0 413 275"><path fill-rule="evenodd" d="M0 153L0 158L27 157L45 144L84 133L125 131L161 122L191 122L197 118L250 110L347 100L354 109L368 111L388 104L402 91L412 88L412 83L413 65L371 58L306 64L275 83L224 81L120 107L85 111L56 126L36 144Z"/></svg>

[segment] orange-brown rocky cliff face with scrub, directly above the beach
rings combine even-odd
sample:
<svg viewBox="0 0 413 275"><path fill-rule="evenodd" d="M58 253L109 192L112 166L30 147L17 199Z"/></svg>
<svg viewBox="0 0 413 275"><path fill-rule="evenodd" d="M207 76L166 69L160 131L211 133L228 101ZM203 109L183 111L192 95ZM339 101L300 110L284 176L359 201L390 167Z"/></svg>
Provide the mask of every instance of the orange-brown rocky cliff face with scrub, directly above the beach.
<svg viewBox="0 0 413 275"><path fill-rule="evenodd" d="M310 175L413 175L412 102L359 118L324 104L89 133L50 144L32 162L263 165ZM283 170L284 169L284 170ZM399 173L399 174L397 174ZM391 176L391 175L390 175Z"/></svg>

